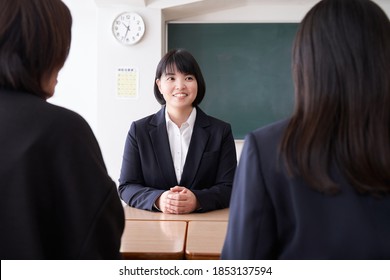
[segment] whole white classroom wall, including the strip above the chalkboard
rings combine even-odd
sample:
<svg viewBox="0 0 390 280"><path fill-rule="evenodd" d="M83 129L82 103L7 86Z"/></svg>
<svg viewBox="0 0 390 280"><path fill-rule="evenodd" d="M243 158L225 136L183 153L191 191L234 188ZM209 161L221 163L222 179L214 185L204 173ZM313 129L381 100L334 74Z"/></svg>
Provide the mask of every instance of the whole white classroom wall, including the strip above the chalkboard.
<svg viewBox="0 0 390 280"><path fill-rule="evenodd" d="M155 67L165 52L165 21L180 22L298 22L317 1L275 5L270 0L249 1L246 6L188 15L127 5L125 0L63 0L72 11L73 41L69 59L60 72L55 96L50 102L81 114L91 125L103 152L108 172L118 182L126 135L132 121L157 111L153 96ZM137 1L130 1L138 3ZM139 1L143 2L143 1ZM390 14L390 1L380 3ZM140 43L122 46L111 33L112 20L123 11L143 16L146 32ZM139 69L137 99L116 95L118 67ZM242 141L237 143L240 155Z"/></svg>

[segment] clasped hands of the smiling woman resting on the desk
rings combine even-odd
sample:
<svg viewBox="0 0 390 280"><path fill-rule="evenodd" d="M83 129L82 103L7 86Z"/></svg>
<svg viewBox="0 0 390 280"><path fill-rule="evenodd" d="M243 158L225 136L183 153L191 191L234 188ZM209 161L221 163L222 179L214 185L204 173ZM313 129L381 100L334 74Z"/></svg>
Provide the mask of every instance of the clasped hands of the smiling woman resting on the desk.
<svg viewBox="0 0 390 280"><path fill-rule="evenodd" d="M161 212L169 214L186 214L199 208L195 194L181 186L163 192L156 200L156 206Z"/></svg>

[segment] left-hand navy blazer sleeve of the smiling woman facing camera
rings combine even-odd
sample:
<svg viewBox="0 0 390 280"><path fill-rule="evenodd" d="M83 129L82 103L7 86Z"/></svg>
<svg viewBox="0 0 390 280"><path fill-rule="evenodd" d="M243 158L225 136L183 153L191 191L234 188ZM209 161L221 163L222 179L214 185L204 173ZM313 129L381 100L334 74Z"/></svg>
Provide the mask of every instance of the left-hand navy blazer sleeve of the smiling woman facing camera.
<svg viewBox="0 0 390 280"><path fill-rule="evenodd" d="M165 191L165 189L158 189L148 187L145 185L143 163L146 158L153 158L153 148L144 149L150 155L142 155L140 153L140 143L138 143L137 125L132 123L130 130L127 134L125 149L123 152L123 160L121 167L121 174L119 178L119 195L121 199L128 205L144 210L154 210L154 203L156 199ZM142 136L141 136L142 138ZM145 141L146 137L145 137ZM143 145L147 145L143 143ZM149 170L149 176L152 176L153 172ZM147 170L146 170L147 172ZM155 171L154 171L155 172Z"/></svg>

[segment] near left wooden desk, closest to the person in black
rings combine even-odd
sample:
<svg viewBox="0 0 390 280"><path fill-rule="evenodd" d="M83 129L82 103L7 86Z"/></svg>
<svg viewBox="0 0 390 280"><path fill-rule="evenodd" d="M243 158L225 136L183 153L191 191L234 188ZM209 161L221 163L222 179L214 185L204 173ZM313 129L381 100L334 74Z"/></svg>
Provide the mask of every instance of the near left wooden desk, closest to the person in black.
<svg viewBox="0 0 390 280"><path fill-rule="evenodd" d="M183 221L127 220L120 251L125 259L183 259L186 230Z"/></svg>

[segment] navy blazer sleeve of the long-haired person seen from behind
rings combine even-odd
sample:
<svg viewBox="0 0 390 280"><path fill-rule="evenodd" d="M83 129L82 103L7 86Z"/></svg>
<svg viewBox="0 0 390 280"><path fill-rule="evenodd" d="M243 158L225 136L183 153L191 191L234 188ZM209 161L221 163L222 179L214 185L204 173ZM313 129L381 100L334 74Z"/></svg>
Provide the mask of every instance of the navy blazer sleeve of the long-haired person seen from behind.
<svg viewBox="0 0 390 280"><path fill-rule="evenodd" d="M267 193L261 155L253 134L245 139L233 182L222 259L275 258L274 209Z"/></svg>

